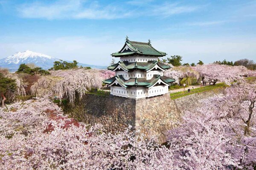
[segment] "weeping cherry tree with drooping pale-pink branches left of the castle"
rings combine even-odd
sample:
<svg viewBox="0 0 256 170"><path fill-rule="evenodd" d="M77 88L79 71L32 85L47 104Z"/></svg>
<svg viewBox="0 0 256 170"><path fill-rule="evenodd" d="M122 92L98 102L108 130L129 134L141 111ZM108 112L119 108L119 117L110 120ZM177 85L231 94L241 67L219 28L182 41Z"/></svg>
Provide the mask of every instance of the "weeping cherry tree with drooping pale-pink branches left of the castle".
<svg viewBox="0 0 256 170"><path fill-rule="evenodd" d="M114 76L113 71L70 69L51 71L51 76L42 76L31 90L39 97L57 95L74 102L91 88L102 88L102 81Z"/></svg>

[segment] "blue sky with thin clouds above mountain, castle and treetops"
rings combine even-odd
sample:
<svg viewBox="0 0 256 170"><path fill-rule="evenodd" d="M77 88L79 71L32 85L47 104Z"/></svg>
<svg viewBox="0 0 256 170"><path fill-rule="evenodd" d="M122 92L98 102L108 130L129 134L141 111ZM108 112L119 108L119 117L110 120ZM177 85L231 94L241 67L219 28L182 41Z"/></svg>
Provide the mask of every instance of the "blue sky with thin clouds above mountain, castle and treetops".
<svg viewBox="0 0 256 170"><path fill-rule="evenodd" d="M256 0L0 0L0 58L108 65L126 35L183 62L256 61Z"/></svg>

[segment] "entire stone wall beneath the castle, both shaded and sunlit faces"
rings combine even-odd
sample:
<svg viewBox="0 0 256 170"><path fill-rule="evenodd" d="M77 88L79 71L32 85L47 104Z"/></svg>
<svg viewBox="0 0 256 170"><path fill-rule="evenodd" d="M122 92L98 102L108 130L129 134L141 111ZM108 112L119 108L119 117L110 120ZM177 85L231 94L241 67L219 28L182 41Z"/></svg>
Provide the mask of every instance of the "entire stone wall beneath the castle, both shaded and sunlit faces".
<svg viewBox="0 0 256 170"><path fill-rule="evenodd" d="M64 112L86 124L102 124L105 132L122 132L128 125L147 137L166 142L166 132L182 118L183 111L198 107L198 100L219 91L192 94L172 100L168 94L144 99L85 94L83 99L64 107Z"/></svg>

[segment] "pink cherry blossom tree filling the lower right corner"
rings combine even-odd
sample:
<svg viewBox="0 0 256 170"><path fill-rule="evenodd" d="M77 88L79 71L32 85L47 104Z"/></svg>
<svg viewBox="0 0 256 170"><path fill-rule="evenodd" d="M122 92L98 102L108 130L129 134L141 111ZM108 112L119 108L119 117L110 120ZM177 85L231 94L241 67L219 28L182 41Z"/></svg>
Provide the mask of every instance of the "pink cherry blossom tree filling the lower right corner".
<svg viewBox="0 0 256 170"><path fill-rule="evenodd" d="M253 169L256 166L256 85L242 83L202 100L169 132L185 169Z"/></svg>

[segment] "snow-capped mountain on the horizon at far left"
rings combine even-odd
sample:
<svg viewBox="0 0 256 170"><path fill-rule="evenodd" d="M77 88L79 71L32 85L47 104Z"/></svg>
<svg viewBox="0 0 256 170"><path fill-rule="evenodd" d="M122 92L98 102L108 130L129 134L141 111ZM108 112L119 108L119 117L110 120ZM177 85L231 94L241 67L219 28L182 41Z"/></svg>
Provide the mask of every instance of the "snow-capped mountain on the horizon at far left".
<svg viewBox="0 0 256 170"><path fill-rule="evenodd" d="M34 63L36 66L41 67L43 69L49 69L53 66L53 62L58 61L58 58L48 56L46 54L36 53L33 51L23 51L12 54L9 57L0 59L0 67L9 68L10 71L17 71L20 64L23 63ZM67 61L70 62L70 61ZM87 65L79 63L79 66L83 67L91 67L91 68L106 68L105 66L98 65Z"/></svg>

